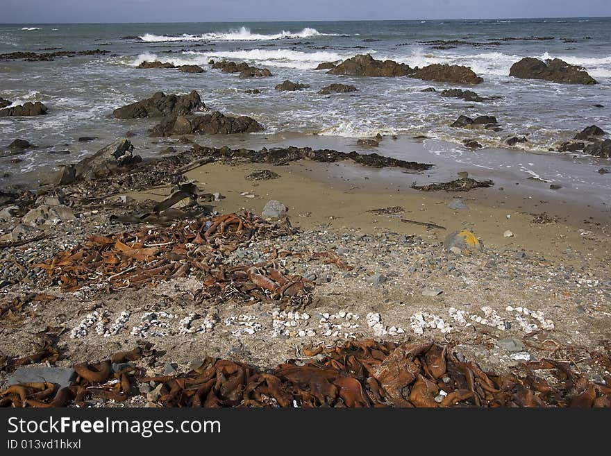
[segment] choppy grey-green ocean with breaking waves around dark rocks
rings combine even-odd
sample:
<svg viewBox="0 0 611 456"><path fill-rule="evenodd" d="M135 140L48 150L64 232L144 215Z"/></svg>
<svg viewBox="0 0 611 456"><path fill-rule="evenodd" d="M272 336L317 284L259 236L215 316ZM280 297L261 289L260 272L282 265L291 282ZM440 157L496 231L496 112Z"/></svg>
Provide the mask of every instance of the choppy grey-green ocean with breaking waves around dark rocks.
<svg viewBox="0 0 611 456"><path fill-rule="evenodd" d="M264 133L251 135L259 136L258 142L265 142L262 137L285 137L307 143L308 137L316 135L318 139L328 137L352 144L354 138L377 133L426 135L435 141L433 144L443 144L441 152L433 150L430 154L441 153L445 160L464 158L468 152L462 140L467 138L478 140L486 148L506 149L508 137L526 135L528 142L517 144L514 150L558 155L550 149L585 126L596 124L611 131L610 18L0 25L0 53L87 49L110 53L42 62L0 61L1 97L13 104L42 101L49 108L45 116L0 119L0 148L17 137L39 146L20 155L19 160L0 159L10 174L0 177L0 183L40 175L41 170L56 164L75 161L128 130L136 138L146 138L148 128L156 123L153 119L124 121L109 116L114 108L160 90L197 90L208 108L255 118L265 126ZM469 103L421 92L426 87L443 90L456 85L408 77L333 76L314 70L321 62L362 53L412 67L466 65L484 78L473 90L480 96L498 98ZM561 58L583 65L599 84L569 85L510 77L511 65L525 56ZM240 79L211 69L208 61L219 58L265 67L274 76ZM206 73L135 69L144 60L201 65ZM300 92L274 90L274 85L285 79L311 87ZM353 84L358 92L317 94L330 83ZM245 94L247 89L262 93ZM494 115L503 130L473 133L450 128L459 115ZM81 136L99 139L79 143L76 140ZM233 140L199 140L204 144L223 141ZM154 144L148 147L155 149ZM383 147L378 153L385 153ZM584 160L594 166L601 161ZM533 160L526 157L522 161ZM541 172L531 174L539 176ZM608 179L592 179L608 190Z"/></svg>

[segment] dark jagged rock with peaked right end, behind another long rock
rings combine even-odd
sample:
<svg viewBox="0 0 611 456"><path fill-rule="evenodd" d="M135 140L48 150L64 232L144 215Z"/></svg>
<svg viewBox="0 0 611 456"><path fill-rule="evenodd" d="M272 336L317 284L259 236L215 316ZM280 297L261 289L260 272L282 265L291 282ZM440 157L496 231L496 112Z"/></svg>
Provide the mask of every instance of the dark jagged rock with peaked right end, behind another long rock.
<svg viewBox="0 0 611 456"><path fill-rule="evenodd" d="M115 109L112 115L117 119L144 119L144 117L187 115L202 108L206 108L206 105L195 90L187 95L166 95L157 92L151 98Z"/></svg>

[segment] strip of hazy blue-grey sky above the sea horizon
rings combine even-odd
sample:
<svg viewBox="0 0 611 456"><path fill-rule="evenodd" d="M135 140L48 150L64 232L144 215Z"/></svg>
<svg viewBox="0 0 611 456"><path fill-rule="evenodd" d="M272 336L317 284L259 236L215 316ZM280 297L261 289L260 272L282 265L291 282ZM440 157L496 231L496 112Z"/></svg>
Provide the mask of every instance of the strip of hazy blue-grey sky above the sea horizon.
<svg viewBox="0 0 611 456"><path fill-rule="evenodd" d="M611 16L611 0L0 0L1 23Z"/></svg>

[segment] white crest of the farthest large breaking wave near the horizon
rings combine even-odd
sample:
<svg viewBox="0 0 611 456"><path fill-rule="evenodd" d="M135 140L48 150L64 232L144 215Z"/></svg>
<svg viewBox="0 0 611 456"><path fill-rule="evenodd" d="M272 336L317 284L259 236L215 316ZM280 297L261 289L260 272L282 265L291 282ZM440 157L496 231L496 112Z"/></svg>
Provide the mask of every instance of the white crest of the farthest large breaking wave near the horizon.
<svg viewBox="0 0 611 456"><path fill-rule="evenodd" d="M228 32L212 32L202 33L201 35L191 35L183 33L183 35L154 35L146 33L140 36L140 40L145 42L168 42L168 41L265 41L265 40L281 40L283 38L310 38L317 36L339 36L336 33L320 33L315 28L303 28L298 33L290 31L281 31L271 35L262 35L260 33L251 33L249 28L241 27L238 30L230 30Z"/></svg>

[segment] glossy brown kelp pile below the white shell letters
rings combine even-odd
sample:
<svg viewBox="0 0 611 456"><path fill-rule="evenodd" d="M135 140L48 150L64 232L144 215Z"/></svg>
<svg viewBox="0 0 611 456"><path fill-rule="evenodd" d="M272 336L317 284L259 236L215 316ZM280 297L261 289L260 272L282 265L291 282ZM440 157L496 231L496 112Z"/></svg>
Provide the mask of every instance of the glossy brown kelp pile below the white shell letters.
<svg viewBox="0 0 611 456"><path fill-rule="evenodd" d="M303 354L314 359L270 371L212 357L176 375L144 376L135 366L112 371L111 362L138 360L147 350L77 364L74 385L56 395L47 383L13 385L0 393L0 406L122 401L153 382L158 394L147 397L162 407L611 407L611 387L588 382L567 363L544 359L497 375L427 340L309 347Z"/></svg>

